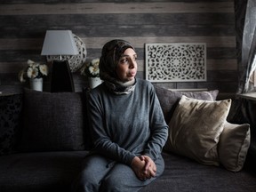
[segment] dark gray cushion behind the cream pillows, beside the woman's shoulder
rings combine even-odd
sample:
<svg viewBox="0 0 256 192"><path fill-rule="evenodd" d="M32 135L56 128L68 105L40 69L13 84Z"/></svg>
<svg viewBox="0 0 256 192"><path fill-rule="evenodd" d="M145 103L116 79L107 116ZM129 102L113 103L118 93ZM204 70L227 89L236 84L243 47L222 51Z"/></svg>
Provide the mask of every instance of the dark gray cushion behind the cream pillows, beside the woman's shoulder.
<svg viewBox="0 0 256 192"><path fill-rule="evenodd" d="M172 114L182 95L188 98L194 98L198 100L216 100L219 93L218 90L207 92L180 92L168 90L164 87L155 85L156 95L159 99L161 108L164 112L165 122L168 124L171 120Z"/></svg>

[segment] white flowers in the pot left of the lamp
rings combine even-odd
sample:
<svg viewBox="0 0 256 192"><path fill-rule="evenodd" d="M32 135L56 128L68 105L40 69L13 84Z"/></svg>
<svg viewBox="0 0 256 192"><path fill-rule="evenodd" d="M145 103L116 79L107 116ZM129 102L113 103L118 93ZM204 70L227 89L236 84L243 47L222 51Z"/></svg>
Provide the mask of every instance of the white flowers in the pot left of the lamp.
<svg viewBox="0 0 256 192"><path fill-rule="evenodd" d="M26 82L26 79L42 78L48 75L48 68L45 64L36 63L28 60L28 66L19 73L20 82Z"/></svg>

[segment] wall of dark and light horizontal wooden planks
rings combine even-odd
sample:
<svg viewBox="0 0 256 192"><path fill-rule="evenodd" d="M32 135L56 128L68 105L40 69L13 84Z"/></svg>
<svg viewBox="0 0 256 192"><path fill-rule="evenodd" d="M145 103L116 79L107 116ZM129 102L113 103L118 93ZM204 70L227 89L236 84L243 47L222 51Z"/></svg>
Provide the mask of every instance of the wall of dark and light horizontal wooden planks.
<svg viewBox="0 0 256 192"><path fill-rule="evenodd" d="M0 81L2 91L21 87L17 74L40 55L47 29L70 29L87 47L87 60L100 57L103 44L123 38L139 54L139 77L145 77L144 44L206 43L207 81L161 83L167 88L237 88L233 0L60 1L2 0L0 3ZM74 74L76 90L84 77ZM82 79L82 80L81 80ZM47 87L47 79L46 79ZM45 88L46 89L46 88Z"/></svg>

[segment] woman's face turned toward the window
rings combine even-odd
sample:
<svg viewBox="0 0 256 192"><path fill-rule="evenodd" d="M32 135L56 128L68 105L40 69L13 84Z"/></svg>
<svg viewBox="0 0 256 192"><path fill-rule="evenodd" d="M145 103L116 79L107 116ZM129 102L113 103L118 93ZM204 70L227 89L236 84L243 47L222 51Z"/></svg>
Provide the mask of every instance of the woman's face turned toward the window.
<svg viewBox="0 0 256 192"><path fill-rule="evenodd" d="M116 74L122 82L132 81L137 73L137 54L132 48L128 48L118 61Z"/></svg>

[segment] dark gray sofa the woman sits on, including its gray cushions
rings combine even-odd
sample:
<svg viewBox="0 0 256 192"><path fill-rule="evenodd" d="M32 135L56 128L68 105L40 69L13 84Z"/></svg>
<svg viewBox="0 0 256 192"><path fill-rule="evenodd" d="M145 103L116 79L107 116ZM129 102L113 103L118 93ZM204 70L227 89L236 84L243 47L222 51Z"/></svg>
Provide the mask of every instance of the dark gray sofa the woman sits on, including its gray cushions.
<svg viewBox="0 0 256 192"><path fill-rule="evenodd" d="M173 92L157 87L166 122L181 95L215 100L218 92ZM70 191L92 148L86 129L86 92L35 92L0 97L0 191ZM253 160L232 172L176 152L163 151L163 176L141 191L256 191ZM245 156L244 158L245 159ZM241 166L241 164L240 164Z"/></svg>

